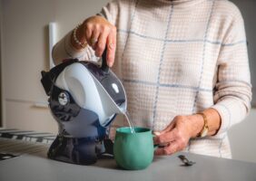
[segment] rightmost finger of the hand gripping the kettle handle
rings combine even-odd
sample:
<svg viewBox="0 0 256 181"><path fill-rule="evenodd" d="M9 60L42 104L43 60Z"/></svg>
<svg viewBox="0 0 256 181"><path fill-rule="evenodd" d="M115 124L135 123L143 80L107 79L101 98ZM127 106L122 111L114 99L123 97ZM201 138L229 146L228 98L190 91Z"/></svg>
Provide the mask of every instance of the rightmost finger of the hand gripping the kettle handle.
<svg viewBox="0 0 256 181"><path fill-rule="evenodd" d="M107 64L109 67L113 66L115 50L116 50L116 31L114 28L107 38Z"/></svg>

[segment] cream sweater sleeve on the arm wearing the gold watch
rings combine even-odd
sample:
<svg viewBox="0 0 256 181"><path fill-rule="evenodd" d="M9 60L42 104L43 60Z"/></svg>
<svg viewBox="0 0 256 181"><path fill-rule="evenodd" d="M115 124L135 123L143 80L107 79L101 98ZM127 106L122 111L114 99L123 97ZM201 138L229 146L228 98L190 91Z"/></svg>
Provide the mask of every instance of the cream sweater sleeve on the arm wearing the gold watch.
<svg viewBox="0 0 256 181"><path fill-rule="evenodd" d="M218 58L213 109L222 125L217 135L241 122L251 109L251 76L243 19L237 9L225 33Z"/></svg>

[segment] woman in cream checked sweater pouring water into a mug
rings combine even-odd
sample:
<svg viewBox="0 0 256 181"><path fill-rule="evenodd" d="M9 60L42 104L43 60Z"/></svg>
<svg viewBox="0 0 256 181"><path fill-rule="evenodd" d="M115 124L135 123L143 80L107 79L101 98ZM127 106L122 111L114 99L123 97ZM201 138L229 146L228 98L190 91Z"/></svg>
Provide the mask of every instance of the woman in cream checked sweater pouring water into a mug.
<svg viewBox="0 0 256 181"><path fill-rule="evenodd" d="M95 60L122 79L133 124L155 155L231 157L227 131L250 110L244 24L226 0L116 0L54 46L55 63Z"/></svg>

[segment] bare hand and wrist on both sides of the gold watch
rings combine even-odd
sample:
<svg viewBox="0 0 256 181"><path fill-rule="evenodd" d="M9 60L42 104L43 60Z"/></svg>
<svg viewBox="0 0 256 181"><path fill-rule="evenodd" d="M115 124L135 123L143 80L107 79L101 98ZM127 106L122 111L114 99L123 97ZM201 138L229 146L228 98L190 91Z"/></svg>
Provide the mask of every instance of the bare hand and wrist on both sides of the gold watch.
<svg viewBox="0 0 256 181"><path fill-rule="evenodd" d="M218 133L222 125L222 119L217 110L212 108L203 110L209 127L208 136ZM171 124L161 132L155 132L154 145L160 147L155 150L155 155L172 155L186 148L190 138L196 138L202 131L204 120L202 115L177 116Z"/></svg>

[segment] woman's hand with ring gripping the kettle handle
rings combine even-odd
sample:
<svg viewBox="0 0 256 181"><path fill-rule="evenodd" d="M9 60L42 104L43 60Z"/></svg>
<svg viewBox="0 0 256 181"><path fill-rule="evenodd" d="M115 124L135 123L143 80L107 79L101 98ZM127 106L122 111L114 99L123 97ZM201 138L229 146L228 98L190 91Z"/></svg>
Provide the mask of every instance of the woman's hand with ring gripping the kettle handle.
<svg viewBox="0 0 256 181"><path fill-rule="evenodd" d="M99 15L89 17L79 26L76 32L77 39L85 41L94 49L95 55L101 57L107 48L107 64L113 66L116 49L116 27ZM74 48L81 49L79 44L72 42Z"/></svg>

